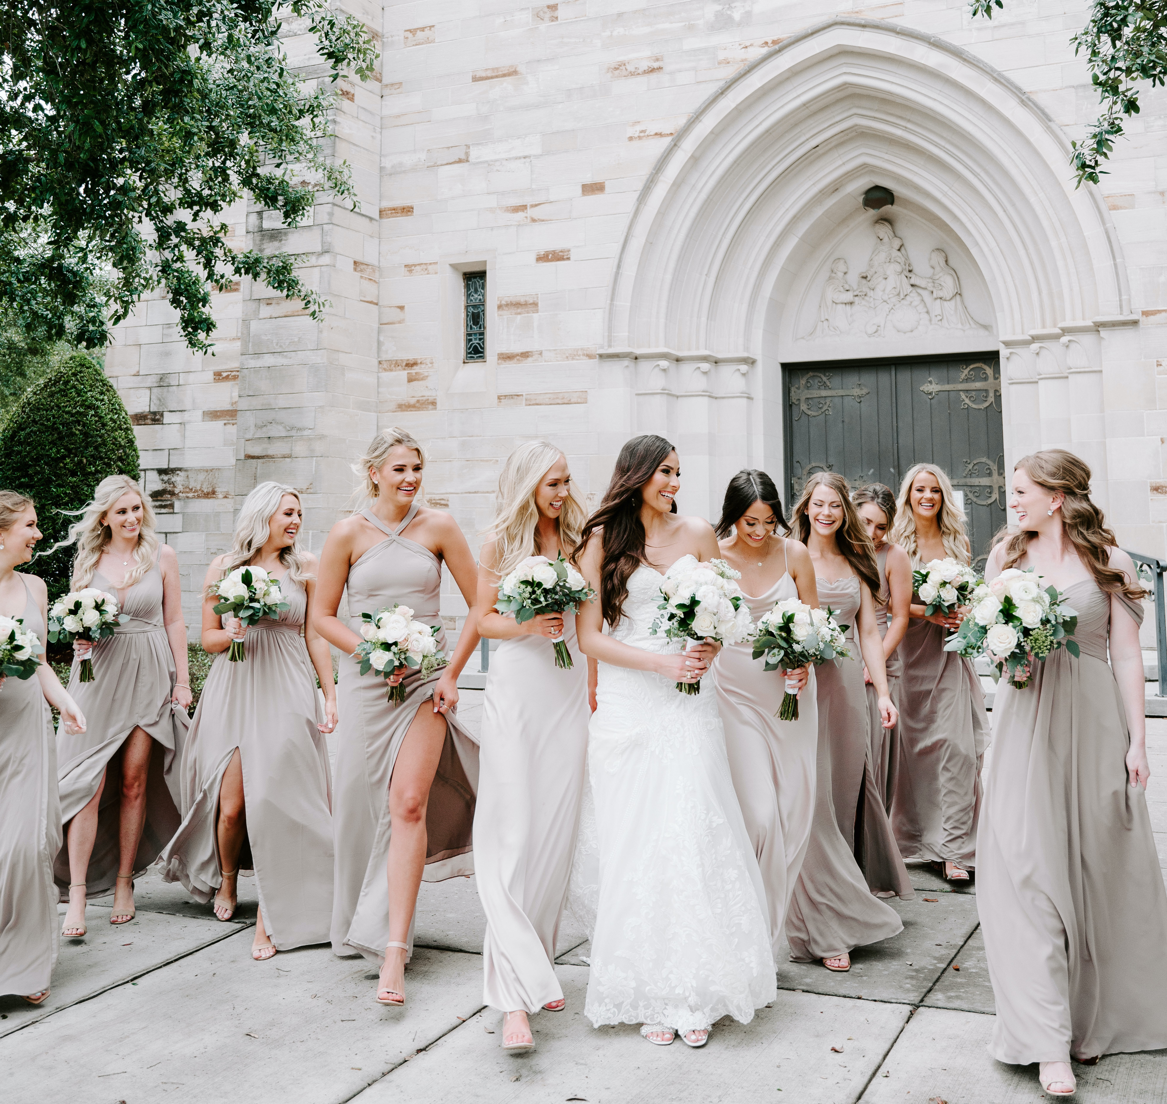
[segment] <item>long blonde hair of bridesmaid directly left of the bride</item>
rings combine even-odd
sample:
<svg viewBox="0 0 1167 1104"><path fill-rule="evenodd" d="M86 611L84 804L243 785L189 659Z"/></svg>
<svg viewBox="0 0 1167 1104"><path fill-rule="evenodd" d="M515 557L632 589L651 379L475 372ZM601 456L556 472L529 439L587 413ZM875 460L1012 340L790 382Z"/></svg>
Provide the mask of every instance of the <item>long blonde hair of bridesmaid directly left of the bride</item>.
<svg viewBox="0 0 1167 1104"><path fill-rule="evenodd" d="M506 457L498 476L495 520L483 534L495 541L495 571L499 575L512 572L529 556L543 554L537 544L539 508L534 504L534 492L547 469L562 455L562 449L547 441L527 441ZM565 558L579 545L585 522L587 511L575 497L574 485L568 483L558 522L559 546Z"/></svg>

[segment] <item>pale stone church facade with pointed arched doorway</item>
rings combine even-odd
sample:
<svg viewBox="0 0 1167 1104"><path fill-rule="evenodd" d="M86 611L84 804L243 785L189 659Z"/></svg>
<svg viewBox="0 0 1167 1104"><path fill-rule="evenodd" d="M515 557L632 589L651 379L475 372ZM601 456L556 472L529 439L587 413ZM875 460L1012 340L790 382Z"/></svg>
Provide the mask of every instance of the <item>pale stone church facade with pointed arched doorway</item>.
<svg viewBox="0 0 1167 1104"><path fill-rule="evenodd" d="M1075 189L1086 0L345 6L383 43L336 112L359 210L235 212L240 245L302 254L327 317L245 282L195 356L152 299L107 356L191 621L257 482L303 491L319 550L390 425L475 546L520 441L600 492L656 432L687 512L746 466L785 497L927 460L980 544L1012 461L1068 447L1124 545L1167 558L1167 95Z"/></svg>

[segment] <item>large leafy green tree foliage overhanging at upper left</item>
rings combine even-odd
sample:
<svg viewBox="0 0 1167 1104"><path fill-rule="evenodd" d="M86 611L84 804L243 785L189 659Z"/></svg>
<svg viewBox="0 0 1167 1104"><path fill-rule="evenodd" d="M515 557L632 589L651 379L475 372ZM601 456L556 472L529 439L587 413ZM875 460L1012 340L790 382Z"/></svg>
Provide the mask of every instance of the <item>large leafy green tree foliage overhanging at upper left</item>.
<svg viewBox="0 0 1167 1104"><path fill-rule="evenodd" d="M312 32L296 72L281 29ZM335 82L376 48L328 0L5 0L0 5L0 308L33 338L104 345L165 286L193 349L210 288L240 277L323 302L294 258L237 250L223 211L244 194L286 225L317 189L352 201L323 139Z"/></svg>

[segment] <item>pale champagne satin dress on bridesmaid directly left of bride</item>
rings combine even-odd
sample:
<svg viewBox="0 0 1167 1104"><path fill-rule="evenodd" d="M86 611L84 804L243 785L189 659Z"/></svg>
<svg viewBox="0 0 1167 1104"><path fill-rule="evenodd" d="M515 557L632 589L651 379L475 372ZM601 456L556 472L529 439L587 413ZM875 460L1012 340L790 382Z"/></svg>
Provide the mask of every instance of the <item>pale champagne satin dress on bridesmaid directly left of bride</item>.
<svg viewBox="0 0 1167 1104"><path fill-rule="evenodd" d="M487 935L483 1004L537 1012L562 999L555 936L579 831L591 711L587 657L564 614L574 666L555 666L545 636L499 642L482 703L475 880Z"/></svg>

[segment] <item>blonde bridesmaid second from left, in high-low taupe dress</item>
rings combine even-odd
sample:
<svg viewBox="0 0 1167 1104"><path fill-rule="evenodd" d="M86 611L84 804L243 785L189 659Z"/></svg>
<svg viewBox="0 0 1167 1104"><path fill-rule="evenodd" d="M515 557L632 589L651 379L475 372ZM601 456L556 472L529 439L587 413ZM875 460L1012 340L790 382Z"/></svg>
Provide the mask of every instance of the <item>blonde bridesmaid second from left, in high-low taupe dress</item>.
<svg viewBox="0 0 1167 1104"><path fill-rule="evenodd" d="M179 558L159 544L154 511L128 476L97 484L69 527L72 588L97 587L126 616L114 635L74 644L69 692L89 717L83 734L57 735L67 848L56 861L68 897L62 935L85 935L85 899L113 889L111 924L134 918L133 879L182 823L179 764L190 720L187 627ZM78 680L92 655L93 682Z"/></svg>

